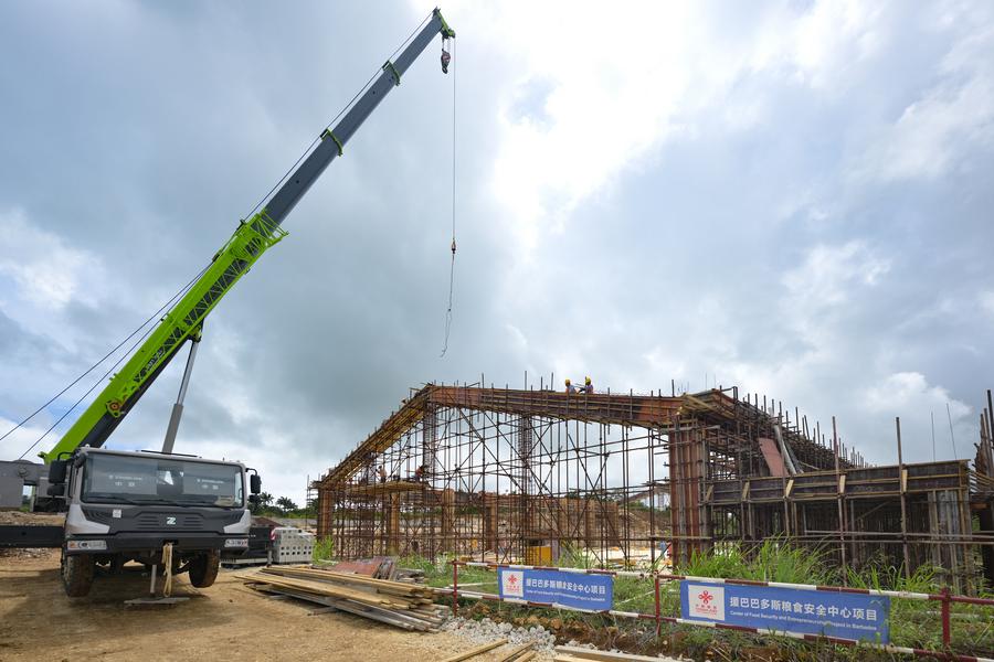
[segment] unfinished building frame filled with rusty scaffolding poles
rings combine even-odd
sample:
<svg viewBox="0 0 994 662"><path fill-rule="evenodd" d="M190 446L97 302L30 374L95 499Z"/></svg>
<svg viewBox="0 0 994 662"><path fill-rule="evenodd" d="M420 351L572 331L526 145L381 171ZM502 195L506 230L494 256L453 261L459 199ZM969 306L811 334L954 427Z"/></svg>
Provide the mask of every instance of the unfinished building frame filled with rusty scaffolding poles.
<svg viewBox="0 0 994 662"><path fill-rule="evenodd" d="M986 413L985 413L986 416ZM986 427L984 427L986 426ZM570 393L427 384L315 481L336 555L649 567L782 536L842 567L994 572L991 427L965 460L870 467L737 388ZM899 430L898 430L899 439ZM986 453L986 455L985 455ZM974 526L974 519L977 520Z"/></svg>

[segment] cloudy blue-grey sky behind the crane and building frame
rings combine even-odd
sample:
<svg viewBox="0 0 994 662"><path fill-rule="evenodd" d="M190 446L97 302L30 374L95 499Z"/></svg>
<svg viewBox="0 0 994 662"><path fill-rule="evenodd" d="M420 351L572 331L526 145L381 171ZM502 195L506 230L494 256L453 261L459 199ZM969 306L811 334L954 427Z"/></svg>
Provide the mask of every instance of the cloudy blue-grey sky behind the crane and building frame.
<svg viewBox="0 0 994 662"><path fill-rule="evenodd" d="M178 451L299 500L409 387L527 371L736 384L836 415L877 463L895 416L930 460L930 413L952 457L948 405L972 457L994 386L994 6L442 9L455 75L436 41L209 318ZM197 274L430 10L0 4L2 430ZM110 447L161 445L182 363Z"/></svg>

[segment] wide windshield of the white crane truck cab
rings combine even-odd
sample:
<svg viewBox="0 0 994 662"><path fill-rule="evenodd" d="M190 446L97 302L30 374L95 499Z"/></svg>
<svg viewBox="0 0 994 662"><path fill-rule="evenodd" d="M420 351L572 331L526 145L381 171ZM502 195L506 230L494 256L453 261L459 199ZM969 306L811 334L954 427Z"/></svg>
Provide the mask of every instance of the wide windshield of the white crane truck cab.
<svg viewBox="0 0 994 662"><path fill-rule="evenodd" d="M197 460L89 455L83 501L241 506L242 469Z"/></svg>

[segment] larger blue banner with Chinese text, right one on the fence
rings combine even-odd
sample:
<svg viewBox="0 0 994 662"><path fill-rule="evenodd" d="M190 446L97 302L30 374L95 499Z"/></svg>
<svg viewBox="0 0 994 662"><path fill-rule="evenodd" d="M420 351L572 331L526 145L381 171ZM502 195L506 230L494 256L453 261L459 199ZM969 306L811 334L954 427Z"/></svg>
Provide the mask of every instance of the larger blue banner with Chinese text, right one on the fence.
<svg viewBox="0 0 994 662"><path fill-rule="evenodd" d="M680 606L690 620L890 642L886 596L681 581Z"/></svg>

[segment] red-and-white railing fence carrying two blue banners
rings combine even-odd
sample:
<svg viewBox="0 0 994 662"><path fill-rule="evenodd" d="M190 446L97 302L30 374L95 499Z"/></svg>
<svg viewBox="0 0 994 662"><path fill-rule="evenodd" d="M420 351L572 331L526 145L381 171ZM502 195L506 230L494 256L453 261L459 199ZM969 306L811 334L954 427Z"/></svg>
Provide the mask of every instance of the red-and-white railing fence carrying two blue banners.
<svg viewBox="0 0 994 662"><path fill-rule="evenodd" d="M604 570L591 568L563 568L550 566L518 565L518 564L494 564L482 562L461 562L453 560L452 564L452 585L446 589L436 589L436 592L448 592L452 596L452 609L454 615L458 615L459 600L487 600L493 602L503 602L519 607L556 609L577 611L589 615L602 615L613 618L635 619L643 621L652 621L655 623L656 636L662 636L663 623L672 623L679 626L715 628L719 630L733 630L738 632L747 632L754 634L769 634L778 637L787 637L808 642L823 642L845 647L865 647L868 649L880 650L887 653L908 654L923 658L934 658L939 660L958 660L963 662L984 661L994 662L992 656L979 656L977 653L994 655L994 632L991 632L991 623L994 622L994 599L975 598L969 596L952 595L949 590L940 594L909 592L895 590L876 590L867 588L853 588L844 586L815 586L810 584L787 584L776 581L753 581L747 579L728 579L716 577L691 577L685 575L672 575L666 573L639 573L631 570ZM494 572L498 574L495 585L498 587L496 592L485 592L480 590L466 590L459 588L459 568L478 568ZM505 575L500 577L500 573L514 573L514 576ZM529 574L536 574L532 579ZM547 579L548 576L556 577ZM521 585L508 586L509 579L521 577L518 581ZM594 584L581 583L580 577L594 577L598 579ZM645 583L653 595L653 611L631 611L615 609L611 596L611 588L606 591L609 600L601 608L591 609L578 607L574 604L564 604L562 601L541 601L529 599L525 583L533 581L536 584L543 583L537 590L549 592L546 588L549 584L553 585L552 590L559 591L559 595L569 596L570 592L575 594L578 588L580 595L584 595L584 588L590 589L602 585L606 579L615 583L618 579L637 580ZM565 587L560 590L558 587ZM717 594L715 599L721 600L720 613L711 616L695 616L692 612L692 604L688 598L688 588L694 587L715 587L711 590ZM734 612L737 597L729 590L723 589L741 587L743 590L751 591L755 610L769 611L774 607L780 607L778 596L793 596L794 602L784 600L784 605L789 609L796 608L803 613L810 613L806 618L807 624L800 623L801 619L783 619L779 622L784 623L782 628L757 627L749 624L740 624L736 622ZM585 595L589 595L586 591ZM594 591L595 592L595 591ZM508 594L525 597L510 597ZM757 597L765 596L766 597ZM708 595L705 594L708 599ZM834 608L833 601L839 602L847 598L863 599L869 605L868 609L855 607L852 613L839 616L839 611L845 611L847 607L842 609ZM742 598L744 600L744 598ZM565 598L570 601L569 597ZM890 604L895 602L895 609L891 611ZM829 607L824 605L828 602ZM919 605L938 605L938 612L928 609L908 609L911 604ZM858 605L859 602L857 602ZM854 631L850 626L848 629L839 626L839 620L849 620L858 623L877 621L878 616L873 613L873 619L867 615L874 605L880 604L878 627L866 627L866 633L858 638L847 638L833 636L833 627L849 632ZM898 605L905 608L898 608ZM959 611L954 611L954 607L961 606ZM717 609L717 608L716 608ZM834 609L834 612L833 612ZM912 620L917 621L916 632L917 639L921 639L922 630L926 631L926 639L930 639L928 631L931 629L935 634L934 639L941 641L941 650L930 650L914 645L918 642L902 642L906 638L903 629L898 627L901 619L913 616ZM740 621L742 619L739 619ZM747 621L748 622L748 621ZM813 627L812 627L813 626ZM882 632L882 637L881 633ZM941 639L939 638L941 632ZM896 640L896 642L895 642ZM910 645L902 645L907 643ZM956 652L958 650L969 649L970 653Z"/></svg>

